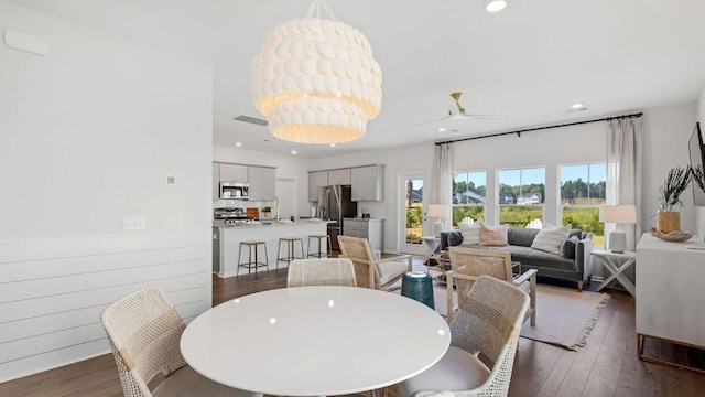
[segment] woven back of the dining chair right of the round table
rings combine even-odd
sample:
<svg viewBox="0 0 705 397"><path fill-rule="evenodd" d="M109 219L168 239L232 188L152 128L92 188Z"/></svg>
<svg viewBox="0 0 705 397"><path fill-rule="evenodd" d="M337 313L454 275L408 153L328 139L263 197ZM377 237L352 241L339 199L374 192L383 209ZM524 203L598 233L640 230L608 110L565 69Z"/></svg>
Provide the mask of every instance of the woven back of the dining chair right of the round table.
<svg viewBox="0 0 705 397"><path fill-rule="evenodd" d="M451 323L451 345L470 354L481 353L494 365L482 393L470 391L468 396L507 396L528 309L529 296L521 289L490 276L475 281Z"/></svg>

